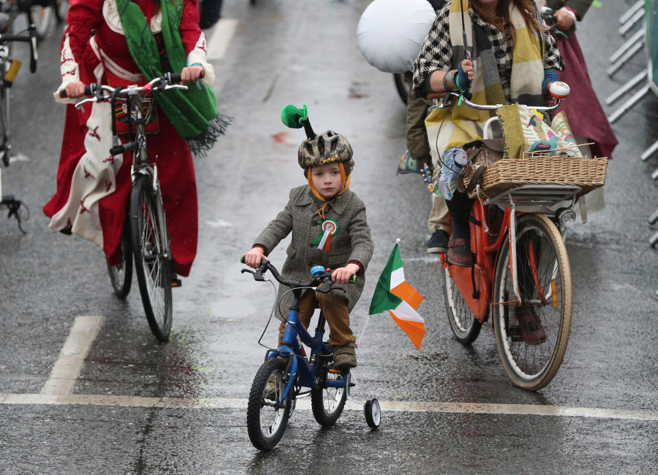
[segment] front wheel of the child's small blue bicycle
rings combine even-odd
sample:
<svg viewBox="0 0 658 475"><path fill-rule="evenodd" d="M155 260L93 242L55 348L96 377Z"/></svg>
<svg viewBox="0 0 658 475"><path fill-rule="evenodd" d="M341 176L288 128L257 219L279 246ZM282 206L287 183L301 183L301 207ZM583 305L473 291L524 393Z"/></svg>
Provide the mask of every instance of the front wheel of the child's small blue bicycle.
<svg viewBox="0 0 658 475"><path fill-rule="evenodd" d="M281 440L290 417L290 393L283 407L281 400L287 363L280 358L265 361L254 376L247 403L247 433L258 450L271 450Z"/></svg>

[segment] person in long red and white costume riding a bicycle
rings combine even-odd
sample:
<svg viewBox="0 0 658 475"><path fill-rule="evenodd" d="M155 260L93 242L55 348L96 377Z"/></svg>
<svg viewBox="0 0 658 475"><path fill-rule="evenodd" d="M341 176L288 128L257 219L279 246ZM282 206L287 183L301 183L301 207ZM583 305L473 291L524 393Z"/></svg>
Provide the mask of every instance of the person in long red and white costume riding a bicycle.
<svg viewBox="0 0 658 475"><path fill-rule="evenodd" d="M110 103L93 103L80 110L72 104L84 94L84 84L127 86L145 84L146 80L128 48L117 0L71 3L62 39L62 84L55 93L57 101L70 105L66 108L57 191L43 210L51 218L49 227L53 232L73 232L97 243L108 262L116 265L130 197L132 153L110 156ZM166 68L164 51L169 50L164 47L160 1L135 3L145 16ZM178 32L187 55L187 66L180 71L182 80L192 82L203 76L202 81L212 86L215 73L206 60L206 37L199 29L197 0L182 0ZM60 90L66 90L68 99L60 99ZM157 119L157 125L150 125L156 132L147 136L149 160L158 163L174 270L188 276L197 250L197 188L192 155L188 141L160 107Z"/></svg>

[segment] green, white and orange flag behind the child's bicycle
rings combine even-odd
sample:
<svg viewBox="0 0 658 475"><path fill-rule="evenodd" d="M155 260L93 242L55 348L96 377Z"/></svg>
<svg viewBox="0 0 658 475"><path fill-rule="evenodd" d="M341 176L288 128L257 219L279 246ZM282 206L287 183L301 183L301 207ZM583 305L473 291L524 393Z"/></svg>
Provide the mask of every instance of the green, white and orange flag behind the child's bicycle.
<svg viewBox="0 0 658 475"><path fill-rule="evenodd" d="M420 351L420 343L425 336L425 321L415 309L422 301L423 297L404 280L402 258L396 242L372 294L369 315L389 310L393 320Z"/></svg>

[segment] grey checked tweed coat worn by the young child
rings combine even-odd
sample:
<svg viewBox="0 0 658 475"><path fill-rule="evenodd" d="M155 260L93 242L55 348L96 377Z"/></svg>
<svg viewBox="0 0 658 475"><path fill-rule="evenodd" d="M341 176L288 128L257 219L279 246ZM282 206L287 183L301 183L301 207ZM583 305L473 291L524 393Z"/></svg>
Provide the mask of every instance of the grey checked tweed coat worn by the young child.
<svg viewBox="0 0 658 475"><path fill-rule="evenodd" d="M310 268L314 265L338 269L348 265L350 260L357 260L363 265L363 273L356 276L356 284L343 286L345 293L335 291L348 300L348 312L350 312L363 292L365 269L374 248L370 237L370 226L365 216L365 205L356 193L348 189L336 199L333 206L326 208L324 219L317 213L321 206L322 202L313 195L308 184L293 188L286 207L260 233L254 245L262 245L266 252L271 252L292 232L292 241L286 251L288 257L281 275L286 279L300 282L310 280ZM338 223L338 231L331 237L330 252L320 250L313 244L321 234L321 224L326 219L333 219ZM288 287L279 287L277 302L287 290ZM276 306L276 316L279 319L286 319L292 301L293 294L289 292L283 302Z"/></svg>

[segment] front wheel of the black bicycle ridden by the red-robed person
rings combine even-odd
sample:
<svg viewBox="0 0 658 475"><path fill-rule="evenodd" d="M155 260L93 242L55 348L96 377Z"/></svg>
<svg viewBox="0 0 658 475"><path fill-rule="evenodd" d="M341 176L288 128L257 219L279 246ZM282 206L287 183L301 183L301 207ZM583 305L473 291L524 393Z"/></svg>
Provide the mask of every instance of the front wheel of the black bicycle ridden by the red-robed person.
<svg viewBox="0 0 658 475"><path fill-rule="evenodd" d="M130 194L135 273L151 331L158 340L167 341L171 331L171 249L160 206L151 178L138 176Z"/></svg>

